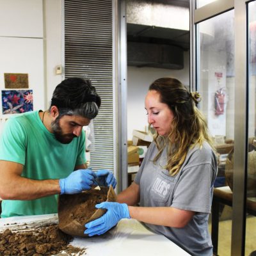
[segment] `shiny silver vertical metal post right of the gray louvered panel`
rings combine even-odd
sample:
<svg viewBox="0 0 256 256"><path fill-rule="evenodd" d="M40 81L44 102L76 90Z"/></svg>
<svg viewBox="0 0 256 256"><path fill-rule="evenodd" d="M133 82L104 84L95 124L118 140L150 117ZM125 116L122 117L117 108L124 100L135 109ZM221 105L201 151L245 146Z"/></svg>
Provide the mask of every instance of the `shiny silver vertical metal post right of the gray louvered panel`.
<svg viewBox="0 0 256 256"><path fill-rule="evenodd" d="M127 174L127 35L126 3L118 1L118 191L128 186Z"/></svg>

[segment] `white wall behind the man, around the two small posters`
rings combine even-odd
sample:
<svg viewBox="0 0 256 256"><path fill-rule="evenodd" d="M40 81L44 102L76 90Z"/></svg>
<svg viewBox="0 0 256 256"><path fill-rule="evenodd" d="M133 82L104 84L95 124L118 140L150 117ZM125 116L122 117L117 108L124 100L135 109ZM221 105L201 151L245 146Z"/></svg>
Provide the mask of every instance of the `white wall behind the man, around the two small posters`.
<svg viewBox="0 0 256 256"><path fill-rule="evenodd" d="M61 0L0 0L0 132L8 118L4 114L4 73L28 74L33 91L33 110L46 109L61 74ZM22 90L22 88L19 88ZM13 111L13 113L15 113Z"/></svg>

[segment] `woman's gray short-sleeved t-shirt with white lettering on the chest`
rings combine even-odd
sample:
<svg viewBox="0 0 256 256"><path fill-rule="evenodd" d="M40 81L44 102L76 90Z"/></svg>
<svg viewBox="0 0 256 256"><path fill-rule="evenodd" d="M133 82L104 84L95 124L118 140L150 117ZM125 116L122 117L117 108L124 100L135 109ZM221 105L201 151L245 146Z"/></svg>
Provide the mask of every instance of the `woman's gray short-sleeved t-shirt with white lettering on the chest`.
<svg viewBox="0 0 256 256"><path fill-rule="evenodd" d="M151 143L134 182L140 186L141 207L175 207L195 211L192 220L183 228L171 228L145 223L148 228L163 234L192 255L212 255L208 231L213 183L217 175L217 160L212 148L204 142L202 148L189 150L182 168L170 176L166 166L166 149L153 163L158 150Z"/></svg>

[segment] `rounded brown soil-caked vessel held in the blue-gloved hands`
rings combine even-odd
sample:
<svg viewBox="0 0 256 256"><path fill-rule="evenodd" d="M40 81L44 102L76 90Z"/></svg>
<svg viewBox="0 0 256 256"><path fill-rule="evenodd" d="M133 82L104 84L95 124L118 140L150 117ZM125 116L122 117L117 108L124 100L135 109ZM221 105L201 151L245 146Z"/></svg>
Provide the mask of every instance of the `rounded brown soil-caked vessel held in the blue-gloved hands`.
<svg viewBox="0 0 256 256"><path fill-rule="evenodd" d="M106 210L95 208L102 202L116 202L112 186L90 189L75 195L60 195L58 218L60 229L71 236L86 237L84 225L102 216Z"/></svg>

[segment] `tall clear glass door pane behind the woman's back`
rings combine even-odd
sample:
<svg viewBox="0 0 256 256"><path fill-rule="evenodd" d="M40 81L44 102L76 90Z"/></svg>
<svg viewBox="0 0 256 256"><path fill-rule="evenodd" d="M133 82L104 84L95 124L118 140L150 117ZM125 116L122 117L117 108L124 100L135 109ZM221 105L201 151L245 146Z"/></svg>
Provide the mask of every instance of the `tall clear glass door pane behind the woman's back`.
<svg viewBox="0 0 256 256"><path fill-rule="evenodd" d="M234 10L198 23L197 31L197 90L202 95L200 109L207 118L218 156L214 195L218 193L219 197L214 196L215 209L209 228L214 236L214 252L225 256L230 255L232 232ZM221 199L226 197L229 201L223 204Z"/></svg>

